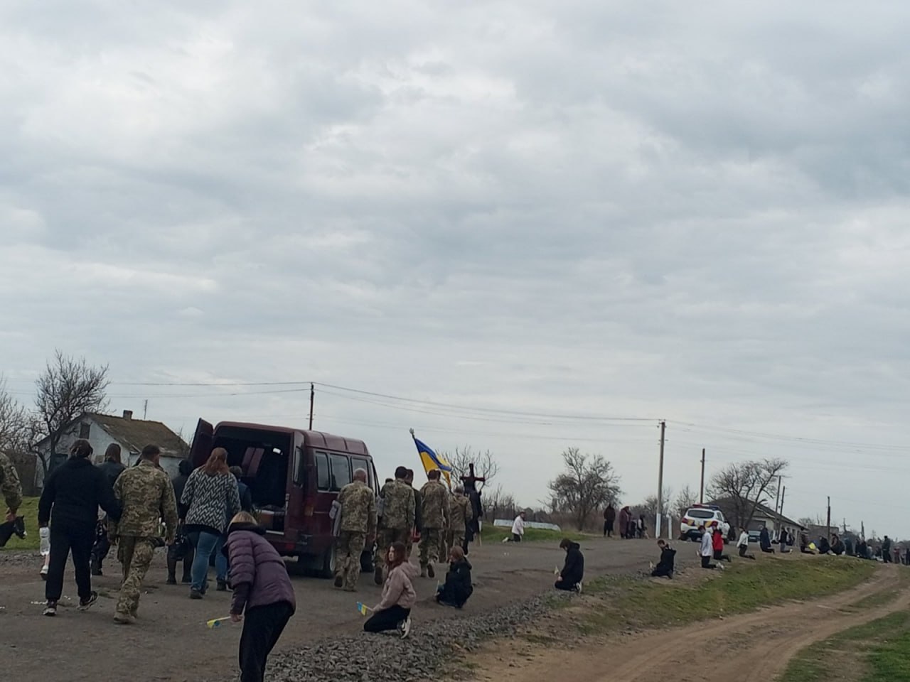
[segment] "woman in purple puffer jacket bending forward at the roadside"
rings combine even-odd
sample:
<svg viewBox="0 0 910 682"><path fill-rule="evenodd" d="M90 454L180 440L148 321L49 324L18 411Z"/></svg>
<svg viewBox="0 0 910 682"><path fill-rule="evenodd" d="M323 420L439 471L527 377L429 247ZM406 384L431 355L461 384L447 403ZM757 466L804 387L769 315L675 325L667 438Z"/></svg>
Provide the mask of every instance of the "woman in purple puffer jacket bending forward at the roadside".
<svg viewBox="0 0 910 682"><path fill-rule="evenodd" d="M240 636L240 682L262 682L268 654L297 606L288 569L264 535L251 514L240 512L231 519L222 550L230 560L234 586L231 620L238 623L246 615Z"/></svg>

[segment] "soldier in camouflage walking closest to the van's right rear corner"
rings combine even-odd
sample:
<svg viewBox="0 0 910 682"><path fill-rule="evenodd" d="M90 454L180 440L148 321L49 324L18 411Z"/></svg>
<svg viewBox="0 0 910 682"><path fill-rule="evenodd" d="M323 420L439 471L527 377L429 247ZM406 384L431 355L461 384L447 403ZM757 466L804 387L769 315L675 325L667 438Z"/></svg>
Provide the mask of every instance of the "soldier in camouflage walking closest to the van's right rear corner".
<svg viewBox="0 0 910 682"><path fill-rule="evenodd" d="M335 587L357 591L360 555L376 535L376 496L367 486L367 472L358 469L354 481L341 488L341 526L335 545Z"/></svg>

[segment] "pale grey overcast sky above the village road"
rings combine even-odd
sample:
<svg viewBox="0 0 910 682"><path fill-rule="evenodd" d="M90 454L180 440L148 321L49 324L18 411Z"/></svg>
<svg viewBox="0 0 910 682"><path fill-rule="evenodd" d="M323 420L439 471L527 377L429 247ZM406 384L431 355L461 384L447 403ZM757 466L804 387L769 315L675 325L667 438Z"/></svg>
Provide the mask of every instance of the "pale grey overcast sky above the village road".
<svg viewBox="0 0 910 682"><path fill-rule="evenodd" d="M27 401L55 348L107 363L112 411L187 437L306 426L308 386L136 384L471 407L319 386L315 426L380 474L418 466L409 426L490 448L531 506L568 446L652 494L664 418L667 486L702 447L709 475L785 456L788 516L830 495L910 537L908 30L904 3L7 0L0 372Z"/></svg>

